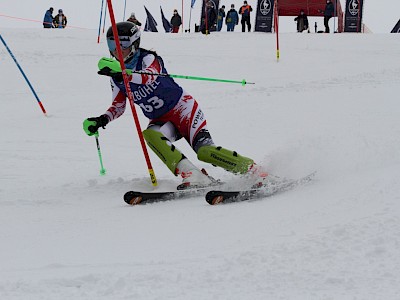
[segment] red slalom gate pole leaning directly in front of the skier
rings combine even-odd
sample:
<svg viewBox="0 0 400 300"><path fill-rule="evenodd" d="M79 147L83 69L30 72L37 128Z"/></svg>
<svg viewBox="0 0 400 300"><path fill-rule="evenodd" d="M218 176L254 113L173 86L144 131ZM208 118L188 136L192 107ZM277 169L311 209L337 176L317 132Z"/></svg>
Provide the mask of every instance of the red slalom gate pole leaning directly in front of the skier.
<svg viewBox="0 0 400 300"><path fill-rule="evenodd" d="M140 128L139 118L136 113L135 103L134 103L134 99L133 99L133 93L132 93L131 87L129 86L128 75L126 73L124 60L122 59L122 49L121 49L121 45L119 44L118 30L117 30L117 25L115 24L115 17L114 17L114 11L113 11L111 0L107 0L107 3L108 3L108 11L110 13L110 20L111 20L111 26L112 26L112 31L113 31L113 35L114 35L115 45L117 48L117 54L118 54L118 57L120 58L119 63L121 65L122 77L124 79L126 94L128 95L129 104L131 105L133 119L135 120L135 125L136 125L136 129L137 129L137 132L139 135L140 144L142 145L143 154L146 159L151 183L153 184L153 186L157 186L157 178L156 178L156 175L154 174L153 167L151 166L149 153L147 152L146 144L145 144L144 138L143 138L142 129Z"/></svg>

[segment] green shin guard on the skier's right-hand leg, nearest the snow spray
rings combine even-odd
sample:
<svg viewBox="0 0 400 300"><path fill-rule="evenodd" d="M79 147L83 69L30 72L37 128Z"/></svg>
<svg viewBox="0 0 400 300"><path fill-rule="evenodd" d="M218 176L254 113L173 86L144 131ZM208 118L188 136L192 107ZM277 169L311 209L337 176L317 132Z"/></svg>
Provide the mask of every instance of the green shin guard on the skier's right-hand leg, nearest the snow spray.
<svg viewBox="0 0 400 300"><path fill-rule="evenodd" d="M201 161L224 168L232 173L245 174L254 163L251 158L241 156L235 151L222 147L203 146L197 152L197 158Z"/></svg>

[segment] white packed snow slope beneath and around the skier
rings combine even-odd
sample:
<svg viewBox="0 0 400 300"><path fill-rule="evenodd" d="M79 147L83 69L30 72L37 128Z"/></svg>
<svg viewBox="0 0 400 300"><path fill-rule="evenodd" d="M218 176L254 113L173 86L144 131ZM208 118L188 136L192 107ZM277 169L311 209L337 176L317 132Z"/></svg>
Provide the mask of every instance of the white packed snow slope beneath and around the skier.
<svg viewBox="0 0 400 300"><path fill-rule="evenodd" d="M200 103L215 142L270 173L313 182L220 206L194 197L129 206L152 190L128 107L111 103L97 32L1 32L1 299L400 299L400 40L395 35L143 33ZM147 120L138 109L142 128ZM224 181L233 175L198 162ZM150 153L157 190L180 183Z"/></svg>

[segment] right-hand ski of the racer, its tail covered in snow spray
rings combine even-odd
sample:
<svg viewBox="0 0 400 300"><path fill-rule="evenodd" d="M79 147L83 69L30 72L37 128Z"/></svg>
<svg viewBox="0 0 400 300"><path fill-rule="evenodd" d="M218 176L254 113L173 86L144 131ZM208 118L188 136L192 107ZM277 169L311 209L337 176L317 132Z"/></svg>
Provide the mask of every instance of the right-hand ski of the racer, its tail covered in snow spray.
<svg viewBox="0 0 400 300"><path fill-rule="evenodd" d="M241 191L212 190L206 194L206 201L210 205L216 205L219 203L240 202L240 201L270 197L272 195L289 191L299 185L303 185L310 182L313 179L315 173L316 172L313 172L299 179L283 180L281 182L267 184L260 188L250 188L248 190L241 190Z"/></svg>

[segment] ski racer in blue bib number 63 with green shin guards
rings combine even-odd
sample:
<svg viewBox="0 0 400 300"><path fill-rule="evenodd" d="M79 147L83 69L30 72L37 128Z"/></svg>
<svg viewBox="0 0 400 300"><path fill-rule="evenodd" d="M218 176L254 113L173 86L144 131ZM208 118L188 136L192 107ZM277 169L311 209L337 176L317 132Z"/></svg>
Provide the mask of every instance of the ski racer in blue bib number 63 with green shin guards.
<svg viewBox="0 0 400 300"><path fill-rule="evenodd" d="M139 28L130 22L120 22L116 26L123 57L118 57L110 27L107 45L115 59L101 59L98 72L111 77L112 104L104 114L84 120L85 133L89 136L97 134L99 128L105 128L124 113L127 94L119 63L122 60L127 70L132 71L128 80L134 102L149 119L143 137L168 169L175 176L182 177L182 186L204 187L213 184L214 180L173 145L181 138L189 143L200 161L235 174L246 174L254 178L256 183L262 182L267 174L251 158L215 145L207 128L206 117L193 96L172 77L157 75L168 74L168 71L156 52L140 48Z"/></svg>

